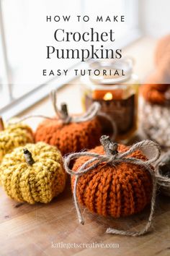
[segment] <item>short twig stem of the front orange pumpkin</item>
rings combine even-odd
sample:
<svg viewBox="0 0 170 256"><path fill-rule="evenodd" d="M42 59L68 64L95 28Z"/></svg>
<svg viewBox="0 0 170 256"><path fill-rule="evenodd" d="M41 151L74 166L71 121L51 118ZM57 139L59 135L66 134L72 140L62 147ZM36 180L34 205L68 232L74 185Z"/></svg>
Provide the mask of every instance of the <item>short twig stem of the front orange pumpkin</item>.
<svg viewBox="0 0 170 256"><path fill-rule="evenodd" d="M100 137L100 142L107 155L115 155L118 153L118 144L110 140L109 136L102 135L102 137Z"/></svg>

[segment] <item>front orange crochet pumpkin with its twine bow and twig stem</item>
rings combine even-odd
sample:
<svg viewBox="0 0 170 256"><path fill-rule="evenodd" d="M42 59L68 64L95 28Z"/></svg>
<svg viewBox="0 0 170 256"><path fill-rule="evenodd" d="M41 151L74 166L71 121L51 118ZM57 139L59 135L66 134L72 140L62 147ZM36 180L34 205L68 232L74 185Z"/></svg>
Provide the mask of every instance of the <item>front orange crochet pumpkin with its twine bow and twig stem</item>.
<svg viewBox="0 0 170 256"><path fill-rule="evenodd" d="M64 158L66 172L71 175L79 223L84 224L79 202L94 213L115 218L138 213L151 202L151 212L143 229L107 229L107 234L146 234L151 228L156 203L157 179L151 164L160 157L161 148L151 140L137 142L128 148L118 145L106 135L102 135L100 142L102 147L71 153ZM148 151L149 159L140 150ZM70 167L72 163L73 168Z"/></svg>

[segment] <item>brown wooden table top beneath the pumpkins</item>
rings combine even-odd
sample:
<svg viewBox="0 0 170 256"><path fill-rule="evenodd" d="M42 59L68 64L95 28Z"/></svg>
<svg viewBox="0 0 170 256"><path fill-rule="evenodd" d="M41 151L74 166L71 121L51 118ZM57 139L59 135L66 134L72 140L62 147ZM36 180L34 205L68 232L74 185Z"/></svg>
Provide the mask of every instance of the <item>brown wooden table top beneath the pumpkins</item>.
<svg viewBox="0 0 170 256"><path fill-rule="evenodd" d="M137 56L137 53L141 53L139 56L141 59L142 52L138 47L135 48L134 56ZM146 67L146 64L143 67ZM71 112L81 111L78 98L78 83L61 89L58 95L59 103L67 99ZM54 114L48 98L22 115L32 114L32 111L33 114L50 116ZM37 121L40 120L28 120L28 124L35 128ZM136 140L140 139L136 138ZM149 207L138 215L121 219L95 216L84 209L85 225L81 226L76 219L69 179L63 194L48 205L15 202L9 199L1 188L0 202L0 255L170 255L169 197L157 196L154 229L150 234L141 237L116 236L105 234L105 231L108 227L125 230L141 229L148 221ZM88 246L93 242L105 245L119 244L119 248L53 248L57 243L61 243L61 246L66 243L69 247L69 243L84 243Z"/></svg>

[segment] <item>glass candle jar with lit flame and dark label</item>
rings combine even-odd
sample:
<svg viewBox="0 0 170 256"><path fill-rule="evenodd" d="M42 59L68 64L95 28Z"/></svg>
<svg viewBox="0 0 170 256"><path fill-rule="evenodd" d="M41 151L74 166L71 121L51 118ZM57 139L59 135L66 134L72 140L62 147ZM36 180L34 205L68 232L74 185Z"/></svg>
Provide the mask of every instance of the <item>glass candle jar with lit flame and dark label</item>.
<svg viewBox="0 0 170 256"><path fill-rule="evenodd" d="M97 101L102 112L117 125L117 141L128 142L138 129L138 76L133 61L90 62L91 75L81 78L81 100L84 110Z"/></svg>

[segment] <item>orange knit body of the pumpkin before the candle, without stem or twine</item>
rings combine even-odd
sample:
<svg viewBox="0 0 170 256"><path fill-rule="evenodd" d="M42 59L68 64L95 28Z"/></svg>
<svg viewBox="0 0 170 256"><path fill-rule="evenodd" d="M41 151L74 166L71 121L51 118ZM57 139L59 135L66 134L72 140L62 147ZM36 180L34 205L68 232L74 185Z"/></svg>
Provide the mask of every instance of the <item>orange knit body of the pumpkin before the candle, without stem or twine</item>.
<svg viewBox="0 0 170 256"><path fill-rule="evenodd" d="M84 148L94 148L99 144L102 126L95 117L81 123L63 124L61 120L45 120L35 132L35 141L47 142L61 150L62 155Z"/></svg>

